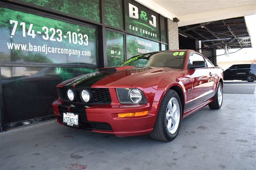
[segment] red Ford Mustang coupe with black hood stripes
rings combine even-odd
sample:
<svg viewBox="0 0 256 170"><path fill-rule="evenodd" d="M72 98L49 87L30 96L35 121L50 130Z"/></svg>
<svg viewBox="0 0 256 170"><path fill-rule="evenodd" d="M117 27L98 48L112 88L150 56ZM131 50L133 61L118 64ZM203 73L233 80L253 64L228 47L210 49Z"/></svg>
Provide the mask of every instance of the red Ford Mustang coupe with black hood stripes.
<svg viewBox="0 0 256 170"><path fill-rule="evenodd" d="M66 126L171 141L181 119L206 105L221 107L222 87L222 70L202 54L159 51L59 84L52 107Z"/></svg>

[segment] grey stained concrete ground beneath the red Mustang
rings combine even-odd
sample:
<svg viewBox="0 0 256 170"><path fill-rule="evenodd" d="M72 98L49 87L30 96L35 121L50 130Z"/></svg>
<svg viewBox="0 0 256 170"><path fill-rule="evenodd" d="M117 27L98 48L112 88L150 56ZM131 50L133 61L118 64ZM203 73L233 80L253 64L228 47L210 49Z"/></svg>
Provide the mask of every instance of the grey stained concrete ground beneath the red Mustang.
<svg viewBox="0 0 256 170"><path fill-rule="evenodd" d="M182 120L172 142L118 138L49 121L0 134L0 169L256 169L256 96L224 94Z"/></svg>

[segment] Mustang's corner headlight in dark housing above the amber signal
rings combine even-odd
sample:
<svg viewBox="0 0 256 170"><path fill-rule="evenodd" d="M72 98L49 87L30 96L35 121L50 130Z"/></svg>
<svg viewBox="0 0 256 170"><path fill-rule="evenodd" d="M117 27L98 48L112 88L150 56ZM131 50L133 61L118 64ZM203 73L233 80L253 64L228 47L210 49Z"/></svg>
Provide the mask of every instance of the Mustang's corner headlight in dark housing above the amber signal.
<svg viewBox="0 0 256 170"><path fill-rule="evenodd" d="M116 94L122 104L147 103L145 95L140 89L116 88Z"/></svg>

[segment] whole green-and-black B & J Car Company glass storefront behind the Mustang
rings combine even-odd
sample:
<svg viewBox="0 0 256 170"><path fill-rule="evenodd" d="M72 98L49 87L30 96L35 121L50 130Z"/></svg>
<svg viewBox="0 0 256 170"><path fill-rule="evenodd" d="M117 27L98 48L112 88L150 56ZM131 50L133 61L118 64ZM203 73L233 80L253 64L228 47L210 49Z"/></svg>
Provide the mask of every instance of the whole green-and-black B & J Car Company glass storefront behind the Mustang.
<svg viewBox="0 0 256 170"><path fill-rule="evenodd" d="M6 1L0 14L1 107L9 125L53 115L56 85L69 78L167 50L166 18L134 0Z"/></svg>

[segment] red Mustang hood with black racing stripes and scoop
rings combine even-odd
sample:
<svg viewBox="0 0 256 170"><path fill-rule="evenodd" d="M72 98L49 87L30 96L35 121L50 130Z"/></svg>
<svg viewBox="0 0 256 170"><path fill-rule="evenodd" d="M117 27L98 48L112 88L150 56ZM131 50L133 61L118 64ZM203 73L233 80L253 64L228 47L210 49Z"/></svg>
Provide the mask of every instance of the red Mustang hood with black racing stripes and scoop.
<svg viewBox="0 0 256 170"><path fill-rule="evenodd" d="M181 71L168 67L133 67L120 66L100 69L99 72L89 73L69 79L57 87L131 87L142 79L164 76L170 72Z"/></svg>

